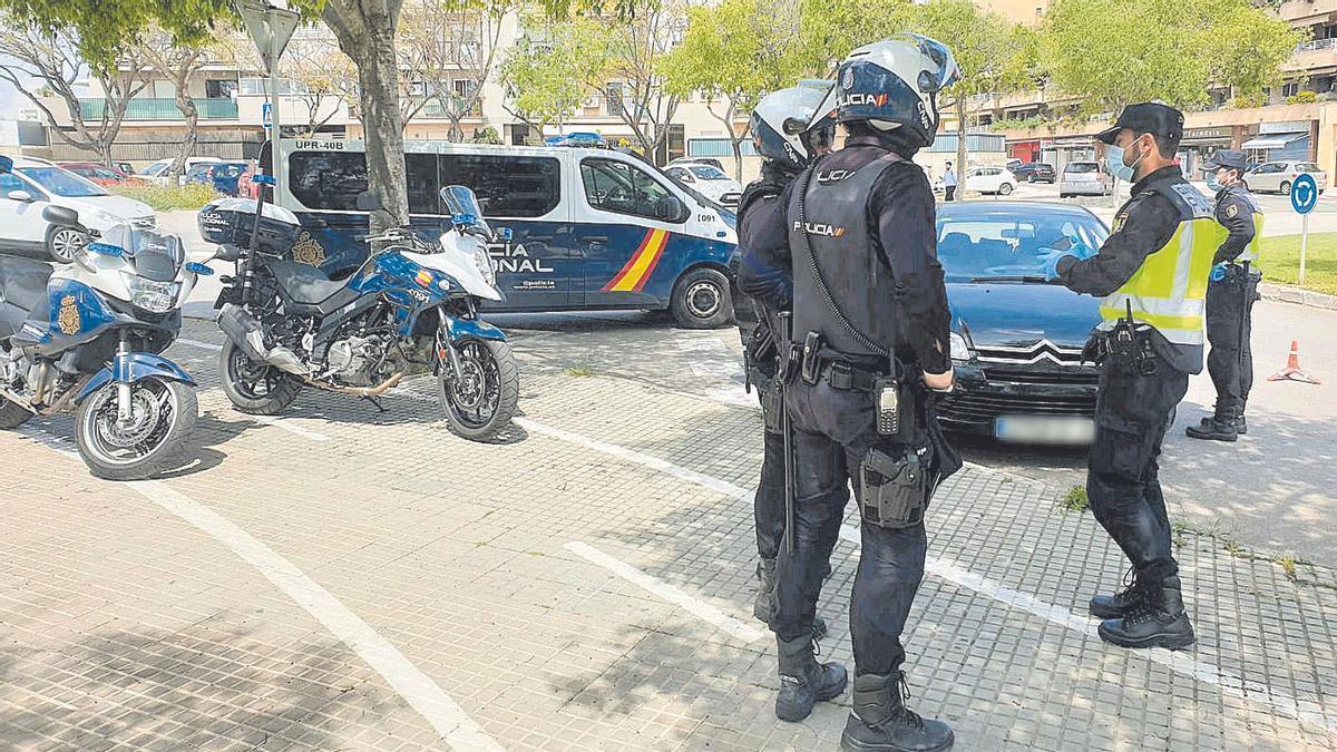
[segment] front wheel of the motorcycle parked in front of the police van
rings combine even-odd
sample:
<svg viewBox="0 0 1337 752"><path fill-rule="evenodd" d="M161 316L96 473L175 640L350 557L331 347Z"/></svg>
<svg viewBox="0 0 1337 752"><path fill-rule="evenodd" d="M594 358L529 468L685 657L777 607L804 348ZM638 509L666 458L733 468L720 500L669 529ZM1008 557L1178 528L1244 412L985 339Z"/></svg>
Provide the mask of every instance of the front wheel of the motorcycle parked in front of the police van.
<svg viewBox="0 0 1337 752"><path fill-rule="evenodd" d="M457 345L460 376L449 363L436 379L437 397L451 432L473 442L495 438L511 423L520 400L520 368L511 345L497 340L464 340Z"/></svg>

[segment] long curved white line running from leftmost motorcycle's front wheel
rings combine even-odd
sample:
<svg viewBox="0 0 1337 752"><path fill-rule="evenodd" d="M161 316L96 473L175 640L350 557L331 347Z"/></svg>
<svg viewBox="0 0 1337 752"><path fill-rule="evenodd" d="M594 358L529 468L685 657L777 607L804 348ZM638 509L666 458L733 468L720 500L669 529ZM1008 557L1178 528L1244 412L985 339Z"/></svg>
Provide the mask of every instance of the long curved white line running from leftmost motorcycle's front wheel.
<svg viewBox="0 0 1337 752"><path fill-rule="evenodd" d="M36 428L25 428L23 434L66 456L75 459L79 456L64 448L63 444L68 442L57 436ZM464 709L432 681L432 677L422 673L361 617L277 551L231 521L175 491L162 480L136 480L124 486L189 522L255 567L275 587L312 614L316 621L325 625L325 629L334 637L352 648L376 673L381 674L418 715L432 724L432 728L452 749L459 752L504 752L504 748L484 733Z"/></svg>

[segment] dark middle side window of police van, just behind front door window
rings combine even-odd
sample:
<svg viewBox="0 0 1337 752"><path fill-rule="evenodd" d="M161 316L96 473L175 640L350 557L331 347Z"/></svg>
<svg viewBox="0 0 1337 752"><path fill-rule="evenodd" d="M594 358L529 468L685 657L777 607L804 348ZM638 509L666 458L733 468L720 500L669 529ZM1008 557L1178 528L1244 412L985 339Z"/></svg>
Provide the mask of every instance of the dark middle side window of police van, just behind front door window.
<svg viewBox="0 0 1337 752"><path fill-rule="evenodd" d="M461 185L488 217L543 217L562 202L562 163L551 157L443 154L441 185Z"/></svg>

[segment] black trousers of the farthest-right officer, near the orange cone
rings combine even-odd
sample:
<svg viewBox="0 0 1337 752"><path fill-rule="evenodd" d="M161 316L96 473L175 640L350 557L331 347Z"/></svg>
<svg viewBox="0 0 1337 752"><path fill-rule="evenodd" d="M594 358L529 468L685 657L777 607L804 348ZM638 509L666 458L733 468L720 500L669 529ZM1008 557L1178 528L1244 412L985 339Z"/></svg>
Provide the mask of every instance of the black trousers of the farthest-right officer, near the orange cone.
<svg viewBox="0 0 1337 752"><path fill-rule="evenodd" d="M1253 388L1253 304L1261 274L1230 268L1207 285L1207 373L1217 387L1217 409L1243 412Z"/></svg>

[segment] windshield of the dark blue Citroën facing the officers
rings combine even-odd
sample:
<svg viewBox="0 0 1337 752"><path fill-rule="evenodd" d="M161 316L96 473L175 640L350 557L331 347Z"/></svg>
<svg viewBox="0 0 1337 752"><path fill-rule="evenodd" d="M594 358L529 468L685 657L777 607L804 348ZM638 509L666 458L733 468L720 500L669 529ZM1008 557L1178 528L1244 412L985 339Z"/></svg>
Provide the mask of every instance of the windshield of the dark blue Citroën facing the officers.
<svg viewBox="0 0 1337 752"><path fill-rule="evenodd" d="M1068 211L971 213L939 218L937 258L949 282L999 278L1043 281L1042 260L1071 248L1091 256L1108 230L1099 219Z"/></svg>

